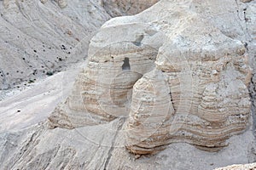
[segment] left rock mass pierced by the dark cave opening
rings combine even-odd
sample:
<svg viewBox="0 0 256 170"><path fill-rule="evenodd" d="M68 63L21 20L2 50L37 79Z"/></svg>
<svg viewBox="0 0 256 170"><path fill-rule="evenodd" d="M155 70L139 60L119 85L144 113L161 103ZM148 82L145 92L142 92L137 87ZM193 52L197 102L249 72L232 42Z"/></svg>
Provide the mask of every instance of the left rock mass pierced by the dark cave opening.
<svg viewBox="0 0 256 170"><path fill-rule="evenodd" d="M70 122L69 127L109 122L129 114L132 87L143 74L154 69L160 44L152 40L161 37L154 26L131 24L129 27L125 35L119 32L114 37L111 34L116 29L114 26L102 28L106 32L99 32L91 40L87 67L77 77L65 105L56 108L49 117L50 127L62 127L60 112L67 115L64 120ZM145 45L142 40L152 42Z"/></svg>

